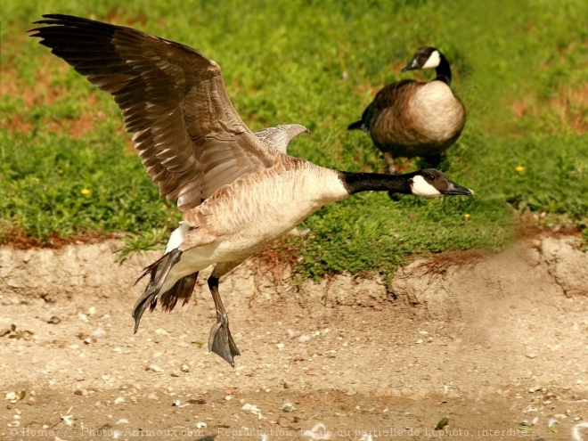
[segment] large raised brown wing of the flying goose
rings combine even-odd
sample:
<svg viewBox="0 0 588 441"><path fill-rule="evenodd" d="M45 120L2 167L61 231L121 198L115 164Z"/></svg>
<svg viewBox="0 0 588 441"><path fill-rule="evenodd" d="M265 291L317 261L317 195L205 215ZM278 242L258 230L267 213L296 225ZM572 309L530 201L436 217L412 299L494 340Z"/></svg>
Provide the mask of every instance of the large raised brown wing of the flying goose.
<svg viewBox="0 0 588 441"><path fill-rule="evenodd" d="M112 94L159 194L197 207L239 176L274 163L276 151L245 126L215 61L192 48L115 26L48 14L31 37Z"/></svg>

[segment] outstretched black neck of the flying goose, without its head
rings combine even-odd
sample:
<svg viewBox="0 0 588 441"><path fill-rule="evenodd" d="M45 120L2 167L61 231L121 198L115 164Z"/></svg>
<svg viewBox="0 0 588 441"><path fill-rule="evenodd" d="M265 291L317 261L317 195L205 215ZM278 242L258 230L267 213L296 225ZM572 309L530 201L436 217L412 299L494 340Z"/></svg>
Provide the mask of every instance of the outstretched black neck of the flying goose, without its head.
<svg viewBox="0 0 588 441"><path fill-rule="evenodd" d="M339 172L339 179L349 194L358 192L412 193L411 180L414 173L405 175L382 175L379 173Z"/></svg>

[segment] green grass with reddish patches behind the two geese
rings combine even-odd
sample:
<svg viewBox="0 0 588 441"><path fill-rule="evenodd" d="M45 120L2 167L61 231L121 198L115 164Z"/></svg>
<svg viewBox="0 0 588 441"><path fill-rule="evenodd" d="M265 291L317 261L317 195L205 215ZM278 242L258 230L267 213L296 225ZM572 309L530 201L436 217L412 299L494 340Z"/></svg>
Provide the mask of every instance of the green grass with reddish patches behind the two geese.
<svg viewBox="0 0 588 441"><path fill-rule="evenodd" d="M383 161L347 125L381 86L412 78L398 70L418 46L445 53L468 122L442 169L476 197L392 202L364 193L323 208L303 225L309 236L276 245L294 249L305 277L389 273L414 254L501 249L523 212L581 228L588 220L582 0L4 0L0 12L0 241L124 233L128 249L144 249L165 240L180 218L129 147L110 96L26 37L47 12L191 45L222 66L249 127L304 124L312 134L298 137L291 154L355 171L383 171Z"/></svg>

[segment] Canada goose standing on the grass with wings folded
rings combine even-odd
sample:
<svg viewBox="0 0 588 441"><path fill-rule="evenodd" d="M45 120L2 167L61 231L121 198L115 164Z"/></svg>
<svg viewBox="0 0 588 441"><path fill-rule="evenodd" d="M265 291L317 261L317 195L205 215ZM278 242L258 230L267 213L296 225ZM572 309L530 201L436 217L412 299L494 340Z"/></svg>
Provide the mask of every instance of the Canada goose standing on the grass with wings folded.
<svg viewBox="0 0 588 441"><path fill-rule="evenodd" d="M435 69L437 77L428 83L403 79L384 87L363 111L361 121L347 127L372 136L390 174L395 173L397 156L438 163L465 126L465 109L451 90L451 69L443 53L420 47L402 71L414 69Z"/></svg>

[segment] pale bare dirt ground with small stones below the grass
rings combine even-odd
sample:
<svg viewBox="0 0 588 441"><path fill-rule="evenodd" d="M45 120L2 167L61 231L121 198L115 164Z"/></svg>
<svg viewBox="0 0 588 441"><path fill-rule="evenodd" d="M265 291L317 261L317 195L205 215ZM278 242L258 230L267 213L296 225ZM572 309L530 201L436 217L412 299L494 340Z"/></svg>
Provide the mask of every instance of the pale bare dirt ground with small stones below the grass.
<svg viewBox="0 0 588 441"><path fill-rule="evenodd" d="M146 313L144 253L0 249L0 439L588 440L588 257L529 240L384 283L294 288L252 260L221 282L241 356L209 354L195 300ZM576 433L573 432L576 430Z"/></svg>

